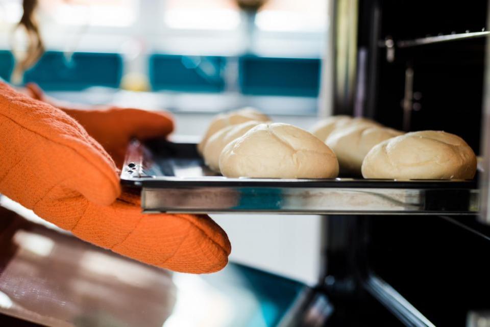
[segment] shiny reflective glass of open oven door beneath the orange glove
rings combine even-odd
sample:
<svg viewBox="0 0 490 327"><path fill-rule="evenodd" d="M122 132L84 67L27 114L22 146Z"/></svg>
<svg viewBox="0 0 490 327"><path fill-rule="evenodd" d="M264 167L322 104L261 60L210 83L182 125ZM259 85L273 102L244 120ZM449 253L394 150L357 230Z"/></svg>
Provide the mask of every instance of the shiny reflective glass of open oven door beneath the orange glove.
<svg viewBox="0 0 490 327"><path fill-rule="evenodd" d="M237 264L208 275L171 273L0 208L7 316L48 326L268 327L304 289Z"/></svg>

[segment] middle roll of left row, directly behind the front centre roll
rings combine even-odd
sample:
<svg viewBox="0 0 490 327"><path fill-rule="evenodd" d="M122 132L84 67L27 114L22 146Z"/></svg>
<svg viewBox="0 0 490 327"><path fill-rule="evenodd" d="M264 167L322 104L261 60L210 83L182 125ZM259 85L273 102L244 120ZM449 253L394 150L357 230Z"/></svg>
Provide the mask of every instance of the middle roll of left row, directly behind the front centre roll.
<svg viewBox="0 0 490 327"><path fill-rule="evenodd" d="M212 170L219 172L219 155L223 148L260 123L260 121L251 120L237 125L230 125L214 133L204 146L203 157L206 165Z"/></svg>

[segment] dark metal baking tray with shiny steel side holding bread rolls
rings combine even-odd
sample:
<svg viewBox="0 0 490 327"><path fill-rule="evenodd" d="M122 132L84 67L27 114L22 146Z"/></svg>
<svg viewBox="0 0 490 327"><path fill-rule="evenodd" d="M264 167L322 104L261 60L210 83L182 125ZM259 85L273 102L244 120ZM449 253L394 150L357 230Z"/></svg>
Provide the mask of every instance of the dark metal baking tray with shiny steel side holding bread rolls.
<svg viewBox="0 0 490 327"><path fill-rule="evenodd" d="M476 180L226 178L194 143L133 140L121 184L141 189L144 212L473 215Z"/></svg>

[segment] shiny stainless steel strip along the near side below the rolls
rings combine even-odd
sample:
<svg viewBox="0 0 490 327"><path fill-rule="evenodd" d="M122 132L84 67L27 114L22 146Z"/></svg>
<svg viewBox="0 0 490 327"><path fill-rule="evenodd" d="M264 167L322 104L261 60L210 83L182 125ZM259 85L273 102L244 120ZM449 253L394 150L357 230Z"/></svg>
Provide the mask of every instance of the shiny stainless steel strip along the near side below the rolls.
<svg viewBox="0 0 490 327"><path fill-rule="evenodd" d="M478 190L374 188L143 188L146 212L476 214ZM451 207L444 199L459 197Z"/></svg>

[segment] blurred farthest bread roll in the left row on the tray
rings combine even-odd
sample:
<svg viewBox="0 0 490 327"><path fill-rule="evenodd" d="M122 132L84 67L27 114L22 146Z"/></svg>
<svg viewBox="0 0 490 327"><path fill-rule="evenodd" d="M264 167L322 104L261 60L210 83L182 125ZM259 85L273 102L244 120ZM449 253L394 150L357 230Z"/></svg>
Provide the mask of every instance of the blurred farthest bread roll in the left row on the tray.
<svg viewBox="0 0 490 327"><path fill-rule="evenodd" d="M201 142L198 144L199 153L203 153L204 146L206 145L208 139L220 129L250 120L270 121L271 119L267 115L251 107L217 115L209 124L208 130L204 134Z"/></svg>

